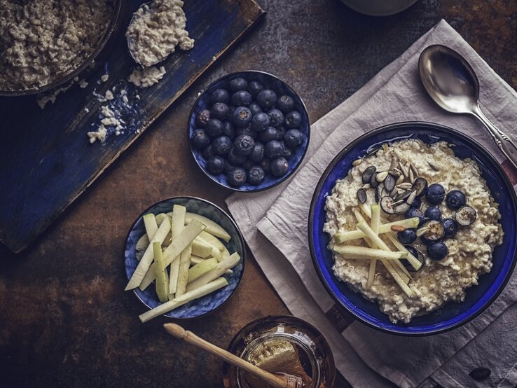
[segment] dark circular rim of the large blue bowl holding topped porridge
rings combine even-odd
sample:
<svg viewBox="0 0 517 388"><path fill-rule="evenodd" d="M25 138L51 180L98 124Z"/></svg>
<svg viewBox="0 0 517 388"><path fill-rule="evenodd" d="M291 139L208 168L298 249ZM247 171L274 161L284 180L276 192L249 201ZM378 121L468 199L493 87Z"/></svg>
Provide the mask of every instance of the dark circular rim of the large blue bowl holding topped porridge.
<svg viewBox="0 0 517 388"><path fill-rule="evenodd" d="M511 278L511 275L513 274L513 270L515 269L516 263L517 263L517 251L516 251L516 253L513 255L513 263L511 264L511 268L509 268L509 271L506 274L506 278L504 279L504 282L502 282L501 286L499 286L499 289L497 289L497 291L492 296L492 298L490 298L490 300L488 300L485 303L485 305L483 305L483 307L481 307L481 309L479 309L475 314L471 314L469 317L464 318L462 321L457 322L456 324L453 324L453 325L448 326L446 328L441 328L441 329L438 329L438 330L435 330L435 331L431 330L431 331L427 331L425 333L409 333L409 332L405 332L405 331L394 331L394 330L390 330L390 329L383 328L383 327L377 326L375 324L372 324L370 321L367 321L366 319L363 319L362 317L359 317L357 314L355 314L353 310L351 310L347 305L345 305L333 293L333 291L331 290L329 284L327 284L327 282L326 282L326 280L324 278L322 270L319 268L319 265L317 263L317 254L316 254L315 247L314 247L314 241L312 240L312 220L314 219L316 199L317 199L317 196L318 196L319 192L322 189L322 186L323 186L323 183L324 183L324 181L326 179L326 176L329 175L329 173L331 172L331 169L333 169L333 167L336 166L336 164L339 162L339 160L341 158L343 158L343 155L345 155L345 153L350 151L351 148L354 148L355 146L357 146L357 144L359 144L361 141L364 141L364 139L367 139L368 137L374 136L375 134L379 134L380 132L389 132L390 130L404 128L404 127L422 127L422 126L425 126L425 127L428 127L428 128L429 127L431 127L431 128L434 127L436 129L439 129L439 130L445 130L445 131L448 131L448 132L452 132L453 134L455 134L455 135L457 135L459 137L466 138L468 141L470 141L475 146L477 146L479 148L479 150L481 151L481 153L483 153L495 166L497 166L497 169L502 174L502 177L504 179L504 183L506 183L506 186L508 186L510 188L513 188L513 185L511 184L508 176L506 175L506 172L504 172L504 169L502 169L501 164L499 162L497 162L497 160L494 158L494 156L491 153L489 153L488 151L486 151L485 148L483 146L481 146L481 144L479 144L477 141L475 141L474 139L469 137L467 134L464 134L464 133L462 133L460 131L454 130L451 127L447 127L446 125L441 125L441 124L436 124L436 123L428 123L428 122L425 122L425 121L404 121L404 122L401 122L401 123L392 123L392 124L383 125L382 127L377 127L374 130L371 130L371 131L368 131L368 132L362 134L361 136L357 137L357 139L354 139L349 144L347 144L347 146L345 146L345 148L343 148L333 158L333 160L326 167L326 169L323 172L322 176L319 178L319 181L318 181L318 183L316 185L314 193L312 194L312 200L310 201L309 218L308 218L308 238L309 238L309 248L310 248L310 257L312 259L312 265L314 265L314 267L315 267L315 270L317 272L317 275L319 277L320 282L322 282L322 284L325 287L326 291L333 298L333 300L340 307L343 307L345 310L347 310L347 312L352 314L354 319L356 319L357 321L360 321L363 324L366 324L366 326L370 326L371 328L375 328L378 331L382 331L382 332L390 333L390 334L395 334L395 335L401 335L401 336L404 336L404 337L425 337L427 335L436 335L436 334L440 334L440 333L446 333L447 331L450 331L450 330L453 330L455 328L458 328L458 327L466 324L467 322L471 321L472 319L478 317L478 315L480 315L482 312L484 312L494 302L494 300L497 299L497 297L500 295L500 293L502 293L504 287L506 287L506 284L508 284L508 282L509 282L509 280ZM513 202L513 207L517 207L517 195L515 193L515 190L510 190L510 192L511 192L510 194L511 194L511 200Z"/></svg>

